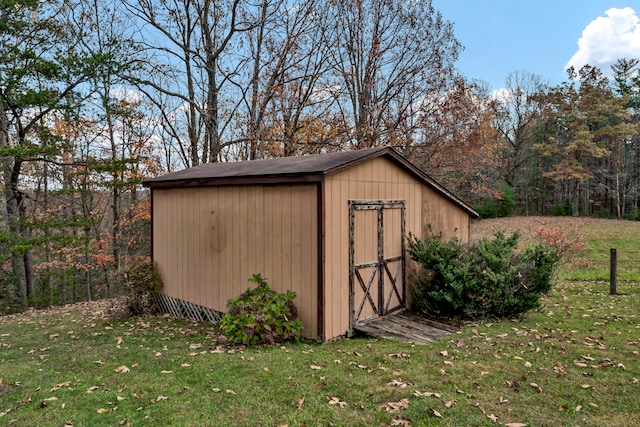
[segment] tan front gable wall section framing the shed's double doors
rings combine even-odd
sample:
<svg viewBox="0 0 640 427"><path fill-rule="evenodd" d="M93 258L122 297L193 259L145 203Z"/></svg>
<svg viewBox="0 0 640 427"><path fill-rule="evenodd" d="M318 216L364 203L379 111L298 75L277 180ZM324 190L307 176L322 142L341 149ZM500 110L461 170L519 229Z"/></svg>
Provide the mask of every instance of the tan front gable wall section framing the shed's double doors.
<svg viewBox="0 0 640 427"><path fill-rule="evenodd" d="M382 157L327 177L323 266L325 339L344 335L350 328L348 201L404 200L407 232L419 235L422 232L422 187L414 176Z"/></svg>

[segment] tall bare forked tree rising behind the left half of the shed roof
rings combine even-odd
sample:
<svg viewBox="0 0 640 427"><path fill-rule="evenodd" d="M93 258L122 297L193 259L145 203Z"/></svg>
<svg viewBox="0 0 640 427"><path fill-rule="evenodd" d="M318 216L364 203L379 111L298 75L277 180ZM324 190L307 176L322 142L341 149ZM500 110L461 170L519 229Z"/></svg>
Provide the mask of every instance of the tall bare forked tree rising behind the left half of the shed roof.
<svg viewBox="0 0 640 427"><path fill-rule="evenodd" d="M225 145L223 134L237 109L224 109L229 78L243 60L231 52L237 35L253 27L241 0L125 0L145 23L138 34L149 54L149 68L129 76L157 104L165 132L178 143L186 166L215 162ZM165 101L170 104L164 103ZM183 117L182 117L183 116ZM184 118L184 127L179 121Z"/></svg>

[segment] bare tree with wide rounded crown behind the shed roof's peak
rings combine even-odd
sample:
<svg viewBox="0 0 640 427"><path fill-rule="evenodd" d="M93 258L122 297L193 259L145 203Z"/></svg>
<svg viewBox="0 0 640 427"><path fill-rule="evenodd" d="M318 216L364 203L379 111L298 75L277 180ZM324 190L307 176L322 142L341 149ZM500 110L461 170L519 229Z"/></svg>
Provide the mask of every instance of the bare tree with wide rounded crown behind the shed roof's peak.
<svg viewBox="0 0 640 427"><path fill-rule="evenodd" d="M351 145L389 142L425 97L450 83L461 49L453 26L430 0L337 0L333 19L333 68Z"/></svg>

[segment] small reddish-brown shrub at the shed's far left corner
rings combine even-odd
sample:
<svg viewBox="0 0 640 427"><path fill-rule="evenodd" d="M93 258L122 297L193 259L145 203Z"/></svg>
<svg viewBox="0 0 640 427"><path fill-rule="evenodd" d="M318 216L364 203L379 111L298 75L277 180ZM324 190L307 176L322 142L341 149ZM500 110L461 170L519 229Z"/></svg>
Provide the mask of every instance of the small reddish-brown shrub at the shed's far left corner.
<svg viewBox="0 0 640 427"><path fill-rule="evenodd" d="M154 294L162 287L162 280L148 257L134 259L118 272L117 279L125 291L125 305L133 316L157 312Z"/></svg>

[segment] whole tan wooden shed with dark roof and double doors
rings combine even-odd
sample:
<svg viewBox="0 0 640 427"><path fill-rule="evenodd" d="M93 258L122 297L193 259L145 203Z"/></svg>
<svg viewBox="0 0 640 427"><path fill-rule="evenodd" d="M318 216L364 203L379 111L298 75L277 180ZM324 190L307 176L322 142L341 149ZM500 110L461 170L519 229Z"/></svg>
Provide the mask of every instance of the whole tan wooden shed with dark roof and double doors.
<svg viewBox="0 0 640 427"><path fill-rule="evenodd" d="M260 273L296 292L318 340L406 306L408 233L467 241L477 216L389 147L210 163L145 185L165 310L216 317Z"/></svg>

